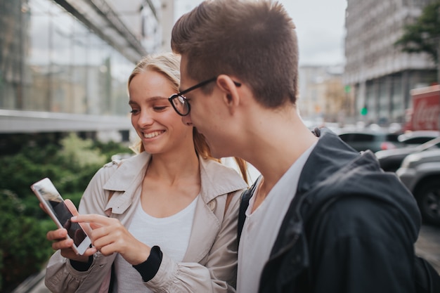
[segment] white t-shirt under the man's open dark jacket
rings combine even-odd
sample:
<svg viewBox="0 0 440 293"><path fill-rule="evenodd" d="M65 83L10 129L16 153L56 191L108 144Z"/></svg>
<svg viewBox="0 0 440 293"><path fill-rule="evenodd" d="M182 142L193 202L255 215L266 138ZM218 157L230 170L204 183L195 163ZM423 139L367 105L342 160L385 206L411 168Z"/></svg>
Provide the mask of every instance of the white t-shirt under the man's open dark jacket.
<svg viewBox="0 0 440 293"><path fill-rule="evenodd" d="M290 202L295 197L302 168L315 145L292 164L252 214L256 196L251 197L238 247L237 293L258 292L261 272ZM261 180L257 182L256 190L260 183Z"/></svg>

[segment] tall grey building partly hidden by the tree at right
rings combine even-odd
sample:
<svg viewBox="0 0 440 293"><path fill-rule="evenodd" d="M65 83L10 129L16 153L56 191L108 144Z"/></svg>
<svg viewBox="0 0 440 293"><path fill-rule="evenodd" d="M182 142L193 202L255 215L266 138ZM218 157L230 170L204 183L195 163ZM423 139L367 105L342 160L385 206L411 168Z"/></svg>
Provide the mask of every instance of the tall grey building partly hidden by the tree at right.
<svg viewBox="0 0 440 293"><path fill-rule="evenodd" d="M394 46L403 27L430 2L347 0L344 84L351 89L358 119L403 122L411 107L410 89L436 82L436 67L427 54L402 53Z"/></svg>

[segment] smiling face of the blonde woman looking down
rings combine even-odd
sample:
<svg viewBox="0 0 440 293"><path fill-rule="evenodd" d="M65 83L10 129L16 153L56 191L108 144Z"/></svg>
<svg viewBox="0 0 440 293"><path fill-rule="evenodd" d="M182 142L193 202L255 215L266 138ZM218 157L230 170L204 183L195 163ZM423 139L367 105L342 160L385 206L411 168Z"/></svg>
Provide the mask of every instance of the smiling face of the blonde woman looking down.
<svg viewBox="0 0 440 293"><path fill-rule="evenodd" d="M129 84L131 124L146 152L187 151L194 149L193 127L181 122L168 97L176 89L164 74L146 70L136 74Z"/></svg>

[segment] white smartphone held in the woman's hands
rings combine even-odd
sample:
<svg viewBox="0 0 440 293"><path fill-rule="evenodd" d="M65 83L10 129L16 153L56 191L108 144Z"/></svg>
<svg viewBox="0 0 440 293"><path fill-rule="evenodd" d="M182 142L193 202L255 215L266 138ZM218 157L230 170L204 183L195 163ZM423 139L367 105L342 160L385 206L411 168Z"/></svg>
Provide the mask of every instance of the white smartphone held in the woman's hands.
<svg viewBox="0 0 440 293"><path fill-rule="evenodd" d="M44 204L56 226L67 230L67 238L73 240L72 249L77 254L84 254L91 245L91 240L79 223L70 221L73 216L72 212L65 205L63 197L58 193L52 181L49 178L41 179L32 184L31 189L37 195L39 201Z"/></svg>

